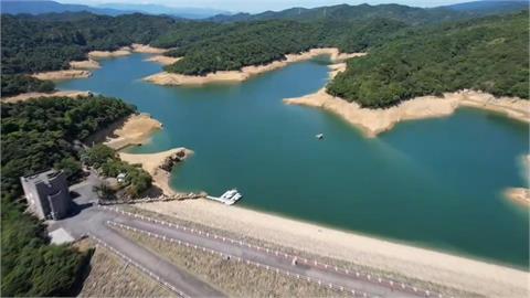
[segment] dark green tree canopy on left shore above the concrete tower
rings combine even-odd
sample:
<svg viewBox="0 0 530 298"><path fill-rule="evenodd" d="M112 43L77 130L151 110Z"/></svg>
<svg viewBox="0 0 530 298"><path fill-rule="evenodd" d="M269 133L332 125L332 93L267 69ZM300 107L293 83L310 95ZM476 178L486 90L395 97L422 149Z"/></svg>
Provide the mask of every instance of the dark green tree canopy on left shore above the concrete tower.
<svg viewBox="0 0 530 298"><path fill-rule="evenodd" d="M67 164L64 159L77 159L74 140L83 140L132 111L134 107L124 102L105 97L2 104L2 195L20 194L21 175Z"/></svg>

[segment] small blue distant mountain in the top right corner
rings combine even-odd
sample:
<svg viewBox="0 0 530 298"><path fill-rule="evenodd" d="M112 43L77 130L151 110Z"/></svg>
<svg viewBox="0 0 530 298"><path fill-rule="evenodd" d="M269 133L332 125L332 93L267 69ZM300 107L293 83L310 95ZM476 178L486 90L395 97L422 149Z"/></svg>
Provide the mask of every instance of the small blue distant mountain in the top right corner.
<svg viewBox="0 0 530 298"><path fill-rule="evenodd" d="M466 3L458 3L453 6L446 6L445 8L452 9L455 11L464 11L478 13L481 15L485 14L496 14L496 13L507 13L524 10L529 8L530 2L527 1L474 1Z"/></svg>

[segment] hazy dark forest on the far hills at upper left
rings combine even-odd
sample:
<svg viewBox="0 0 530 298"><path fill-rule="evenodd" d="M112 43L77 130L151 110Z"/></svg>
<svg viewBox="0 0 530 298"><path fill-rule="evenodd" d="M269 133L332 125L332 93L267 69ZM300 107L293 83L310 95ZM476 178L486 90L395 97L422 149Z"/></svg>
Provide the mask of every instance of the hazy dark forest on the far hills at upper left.
<svg viewBox="0 0 530 298"><path fill-rule="evenodd" d="M174 23L167 17L89 13L2 14L2 74L56 71L93 50L149 43Z"/></svg>

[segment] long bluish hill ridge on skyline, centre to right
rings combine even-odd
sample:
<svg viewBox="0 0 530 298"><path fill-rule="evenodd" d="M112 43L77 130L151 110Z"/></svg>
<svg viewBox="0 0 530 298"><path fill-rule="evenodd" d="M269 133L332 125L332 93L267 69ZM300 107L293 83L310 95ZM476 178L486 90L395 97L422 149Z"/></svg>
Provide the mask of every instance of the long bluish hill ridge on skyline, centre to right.
<svg viewBox="0 0 530 298"><path fill-rule="evenodd" d="M400 4L360 4L349 6L339 4L330 7L319 7L312 9L292 8L282 11L265 11L257 14L236 13L232 15L215 15L209 21L214 22L240 22L258 20L369 20L375 18L385 18L406 23L430 23L444 20L455 20L466 17L466 13L458 12L447 8L423 9Z"/></svg>

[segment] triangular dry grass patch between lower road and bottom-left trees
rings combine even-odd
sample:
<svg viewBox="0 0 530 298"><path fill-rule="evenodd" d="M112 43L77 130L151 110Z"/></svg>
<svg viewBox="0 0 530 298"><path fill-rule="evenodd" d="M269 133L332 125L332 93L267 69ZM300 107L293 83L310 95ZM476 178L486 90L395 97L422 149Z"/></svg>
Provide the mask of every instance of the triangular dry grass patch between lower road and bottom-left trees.
<svg viewBox="0 0 530 298"><path fill-rule="evenodd" d="M76 245L80 249L94 247L94 243L87 240ZM91 270L78 296L174 297L170 290L102 246L97 246L92 256Z"/></svg>

